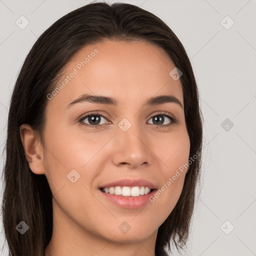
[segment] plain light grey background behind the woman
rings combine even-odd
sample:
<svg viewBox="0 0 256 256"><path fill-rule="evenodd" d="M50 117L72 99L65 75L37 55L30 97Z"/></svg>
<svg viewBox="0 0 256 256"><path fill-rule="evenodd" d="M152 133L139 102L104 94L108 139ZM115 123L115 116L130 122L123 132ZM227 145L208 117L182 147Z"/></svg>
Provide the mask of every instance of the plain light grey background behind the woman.
<svg viewBox="0 0 256 256"><path fill-rule="evenodd" d="M89 2L0 0L1 151L11 91L26 54L55 20ZM124 2L169 25L187 51L199 87L204 116L201 193L183 254L256 255L256 0ZM21 15L29 21L24 29L15 24ZM0 227L2 245L2 223ZM0 254L7 254L6 247Z"/></svg>

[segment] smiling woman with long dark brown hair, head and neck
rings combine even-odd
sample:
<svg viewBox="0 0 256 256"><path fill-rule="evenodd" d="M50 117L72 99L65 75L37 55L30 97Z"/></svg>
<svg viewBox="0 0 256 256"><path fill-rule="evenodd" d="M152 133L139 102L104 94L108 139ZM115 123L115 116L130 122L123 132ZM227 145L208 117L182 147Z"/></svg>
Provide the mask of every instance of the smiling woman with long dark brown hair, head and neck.
<svg viewBox="0 0 256 256"><path fill-rule="evenodd" d="M11 97L2 202L9 255L183 248L201 121L185 49L158 17L100 2L58 19L34 43Z"/></svg>

